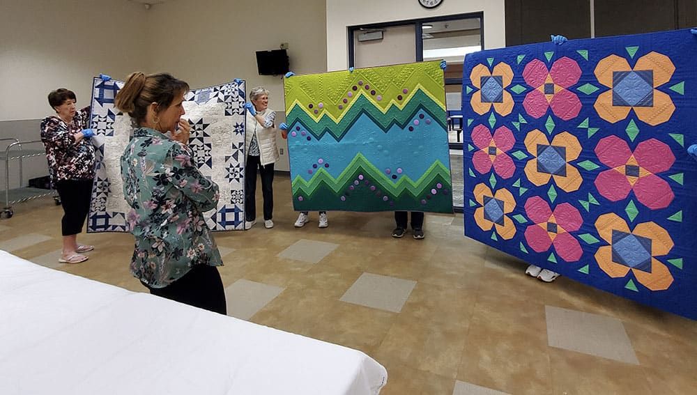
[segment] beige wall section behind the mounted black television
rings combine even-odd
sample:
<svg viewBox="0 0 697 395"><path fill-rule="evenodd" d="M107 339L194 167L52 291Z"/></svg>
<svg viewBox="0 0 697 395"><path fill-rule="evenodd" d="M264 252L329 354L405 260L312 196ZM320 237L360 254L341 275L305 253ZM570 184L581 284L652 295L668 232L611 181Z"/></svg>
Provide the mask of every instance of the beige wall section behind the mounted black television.
<svg viewBox="0 0 697 395"><path fill-rule="evenodd" d="M148 51L153 71L171 72L192 88L233 78L247 81L247 93L263 85L279 116L285 111L282 76L260 76L256 51L287 42L293 72L326 71L324 0L171 0L153 6L148 15L150 36L164 42ZM286 141L278 141L283 155L276 169L287 171Z"/></svg>

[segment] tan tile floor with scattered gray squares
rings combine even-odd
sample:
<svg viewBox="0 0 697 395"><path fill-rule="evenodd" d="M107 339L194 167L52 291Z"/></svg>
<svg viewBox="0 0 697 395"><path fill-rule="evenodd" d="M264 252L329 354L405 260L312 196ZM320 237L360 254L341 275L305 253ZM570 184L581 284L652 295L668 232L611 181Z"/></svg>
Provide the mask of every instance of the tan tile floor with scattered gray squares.
<svg viewBox="0 0 697 395"><path fill-rule="evenodd" d="M388 369L382 394L697 393L696 321L565 277L526 277L521 261L464 238L461 215L427 214L424 240L391 238L390 212L330 212L327 229L311 212L294 229L289 196L277 176L273 229L215 233L228 297L247 304L231 306L371 355ZM52 262L61 215L52 199L15 206L0 249L145 291L128 272L128 234L82 235L96 246L89 261Z"/></svg>

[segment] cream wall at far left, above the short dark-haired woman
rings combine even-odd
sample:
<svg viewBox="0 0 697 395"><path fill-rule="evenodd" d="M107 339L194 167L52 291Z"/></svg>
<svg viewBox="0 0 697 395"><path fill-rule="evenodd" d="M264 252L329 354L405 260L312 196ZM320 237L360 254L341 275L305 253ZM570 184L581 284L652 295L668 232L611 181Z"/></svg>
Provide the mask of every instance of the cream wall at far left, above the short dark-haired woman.
<svg viewBox="0 0 697 395"><path fill-rule="evenodd" d="M136 3L1 0L0 15L0 121L52 114L47 95L61 87L88 105L92 76L145 69L147 13Z"/></svg>

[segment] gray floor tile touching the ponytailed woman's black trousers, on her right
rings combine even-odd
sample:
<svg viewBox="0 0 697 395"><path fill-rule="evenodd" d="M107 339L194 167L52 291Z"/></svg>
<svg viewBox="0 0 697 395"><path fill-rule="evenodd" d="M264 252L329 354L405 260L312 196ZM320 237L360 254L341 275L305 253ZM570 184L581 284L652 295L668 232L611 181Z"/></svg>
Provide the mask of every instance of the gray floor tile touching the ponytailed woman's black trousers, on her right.
<svg viewBox="0 0 697 395"><path fill-rule="evenodd" d="M240 320L249 320L257 311L263 309L285 288L270 286L245 279L235 281L225 288L227 315Z"/></svg>

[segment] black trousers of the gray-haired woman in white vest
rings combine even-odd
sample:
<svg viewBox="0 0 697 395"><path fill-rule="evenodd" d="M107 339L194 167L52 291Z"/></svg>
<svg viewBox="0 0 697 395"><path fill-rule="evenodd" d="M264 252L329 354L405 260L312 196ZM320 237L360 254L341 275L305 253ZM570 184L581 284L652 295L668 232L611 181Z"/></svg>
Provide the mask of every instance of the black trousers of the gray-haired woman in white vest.
<svg viewBox="0 0 697 395"><path fill-rule="evenodd" d="M273 219L273 163L261 166L258 156L247 155L245 165L245 219L256 219L256 171L261 176L263 219Z"/></svg>

